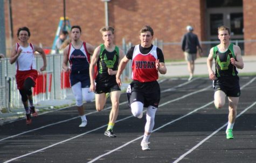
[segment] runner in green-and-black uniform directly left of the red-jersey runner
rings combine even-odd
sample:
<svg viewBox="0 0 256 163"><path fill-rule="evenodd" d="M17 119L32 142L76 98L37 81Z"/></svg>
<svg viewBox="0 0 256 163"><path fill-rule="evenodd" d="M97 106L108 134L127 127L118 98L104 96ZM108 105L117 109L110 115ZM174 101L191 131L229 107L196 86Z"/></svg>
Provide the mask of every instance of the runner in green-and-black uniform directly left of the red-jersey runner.
<svg viewBox="0 0 256 163"><path fill-rule="evenodd" d="M114 124L119 112L119 98L121 90L116 83L115 75L117 67L124 54L117 46L114 45L114 28L102 27L100 29L104 43L98 46L93 53L90 65L91 91L95 91L96 110L100 112L106 104L107 94L110 94L112 109L109 114L109 122L104 135L116 137L113 132ZM94 83L94 66L97 65L98 75Z"/></svg>

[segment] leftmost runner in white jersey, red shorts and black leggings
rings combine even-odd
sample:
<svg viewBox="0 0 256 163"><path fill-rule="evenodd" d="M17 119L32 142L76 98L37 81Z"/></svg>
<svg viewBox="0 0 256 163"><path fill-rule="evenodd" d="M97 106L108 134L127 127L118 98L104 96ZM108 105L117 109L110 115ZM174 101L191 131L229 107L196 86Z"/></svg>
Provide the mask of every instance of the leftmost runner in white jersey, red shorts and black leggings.
<svg viewBox="0 0 256 163"><path fill-rule="evenodd" d="M29 43L30 31L27 27L18 29L17 36L19 42L12 48L10 63L16 63L16 82L23 106L26 110L26 124L31 124L31 113L37 117L37 110L33 106L33 94L31 87L36 86L38 72L36 70L36 60L34 51L37 51L43 58L44 65L40 71L46 69L46 56L44 50L32 43Z"/></svg>

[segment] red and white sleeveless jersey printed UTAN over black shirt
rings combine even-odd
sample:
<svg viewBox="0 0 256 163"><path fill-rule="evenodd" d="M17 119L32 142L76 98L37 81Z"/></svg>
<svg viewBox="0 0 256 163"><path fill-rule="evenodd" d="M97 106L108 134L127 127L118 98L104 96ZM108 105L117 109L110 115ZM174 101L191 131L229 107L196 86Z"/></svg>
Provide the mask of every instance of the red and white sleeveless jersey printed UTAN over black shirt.
<svg viewBox="0 0 256 163"><path fill-rule="evenodd" d="M132 60L132 79L139 82L153 82L158 79L156 70L157 51L156 46L148 54L142 54L140 45L136 45Z"/></svg>

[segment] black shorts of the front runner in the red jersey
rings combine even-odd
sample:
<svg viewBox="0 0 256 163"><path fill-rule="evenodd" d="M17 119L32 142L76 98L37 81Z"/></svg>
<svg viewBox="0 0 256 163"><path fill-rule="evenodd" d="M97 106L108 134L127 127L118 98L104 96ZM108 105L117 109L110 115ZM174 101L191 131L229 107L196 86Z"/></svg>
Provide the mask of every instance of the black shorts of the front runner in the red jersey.
<svg viewBox="0 0 256 163"><path fill-rule="evenodd" d="M129 106L135 101L140 101L144 107L153 106L158 108L161 91L157 81L141 83L134 80L130 83L130 88L130 93L127 92Z"/></svg>

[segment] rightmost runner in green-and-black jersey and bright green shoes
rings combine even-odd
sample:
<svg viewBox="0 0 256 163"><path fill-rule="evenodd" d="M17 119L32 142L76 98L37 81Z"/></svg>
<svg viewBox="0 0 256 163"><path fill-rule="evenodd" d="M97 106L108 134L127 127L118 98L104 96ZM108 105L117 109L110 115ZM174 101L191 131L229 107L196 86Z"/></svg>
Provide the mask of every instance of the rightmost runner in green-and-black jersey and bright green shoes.
<svg viewBox="0 0 256 163"><path fill-rule="evenodd" d="M211 48L207 58L209 78L213 80L215 89L215 107L225 105L226 96L229 99L229 122L226 128L226 138L233 139L233 126L237 116L237 105L240 97L238 69L244 68L241 50L230 43L230 29L226 26L218 27L220 44ZM215 60L215 72L212 71L212 61Z"/></svg>

